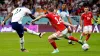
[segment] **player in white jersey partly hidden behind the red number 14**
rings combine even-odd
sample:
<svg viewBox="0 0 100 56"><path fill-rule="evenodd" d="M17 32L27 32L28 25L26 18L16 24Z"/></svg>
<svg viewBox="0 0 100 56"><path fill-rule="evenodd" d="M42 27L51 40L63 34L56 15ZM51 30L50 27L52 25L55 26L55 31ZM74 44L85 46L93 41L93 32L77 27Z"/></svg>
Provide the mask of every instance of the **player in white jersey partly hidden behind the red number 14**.
<svg viewBox="0 0 100 56"><path fill-rule="evenodd" d="M61 9L59 9L59 10L57 10L57 14L58 15L60 15L63 19L64 18L67 18L68 19L68 22L70 23L70 24L72 24L72 21L71 21L71 19L70 19L70 16L69 16L69 12L68 12L68 10L66 9L66 4L64 3L64 4L62 4L62 8ZM69 28L69 26L66 26L69 30L68 30L68 36L72 36L72 31L71 31L71 29ZM75 44L74 42L72 42L71 40L68 40L68 43L69 44Z"/></svg>

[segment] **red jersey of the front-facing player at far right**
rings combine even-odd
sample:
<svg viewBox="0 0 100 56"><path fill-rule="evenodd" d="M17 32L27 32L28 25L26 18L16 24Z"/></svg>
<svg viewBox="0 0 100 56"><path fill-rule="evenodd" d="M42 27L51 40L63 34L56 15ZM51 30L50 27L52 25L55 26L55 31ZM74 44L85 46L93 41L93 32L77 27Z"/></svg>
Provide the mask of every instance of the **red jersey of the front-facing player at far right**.
<svg viewBox="0 0 100 56"><path fill-rule="evenodd" d="M92 25L93 15L92 12L83 13L81 15L81 20L84 22L84 26Z"/></svg>

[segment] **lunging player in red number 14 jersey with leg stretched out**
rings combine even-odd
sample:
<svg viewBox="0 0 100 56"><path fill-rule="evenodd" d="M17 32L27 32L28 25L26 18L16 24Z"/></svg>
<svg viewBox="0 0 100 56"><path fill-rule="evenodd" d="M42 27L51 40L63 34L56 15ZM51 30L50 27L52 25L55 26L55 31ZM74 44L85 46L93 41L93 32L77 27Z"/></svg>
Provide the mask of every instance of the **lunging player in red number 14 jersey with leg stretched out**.
<svg viewBox="0 0 100 56"><path fill-rule="evenodd" d="M52 35L50 35L48 37L48 41L54 48L54 51L52 53L58 53L59 50L56 46L55 40L57 38L60 38L61 36L66 36L66 33L68 33L68 29L66 28L65 25L71 26L73 28L75 28L75 27L67 22L64 22L59 15L54 13L53 8L48 9L48 14L41 15L41 16L37 17L36 19L34 19L32 22L35 22L36 20L39 20L42 17L48 18L52 27L56 30L55 33L53 33ZM69 37L66 36L66 38L69 40L72 40L72 41L76 41L83 45L82 42L78 41L78 39L74 38L73 36L69 36Z"/></svg>

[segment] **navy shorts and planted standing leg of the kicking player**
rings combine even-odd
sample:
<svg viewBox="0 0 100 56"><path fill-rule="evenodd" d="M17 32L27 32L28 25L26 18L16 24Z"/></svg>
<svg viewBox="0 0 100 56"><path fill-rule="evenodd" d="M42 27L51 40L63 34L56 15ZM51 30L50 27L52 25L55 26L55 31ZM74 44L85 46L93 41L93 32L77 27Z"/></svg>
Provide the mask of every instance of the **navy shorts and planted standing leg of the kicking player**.
<svg viewBox="0 0 100 56"><path fill-rule="evenodd" d="M23 37L24 29L23 29L23 26L21 24L19 24L18 22L14 22L11 25L12 25L12 28L14 30L16 30L17 34L20 37L20 47L21 47L21 51L22 52L26 52L26 49L24 48L24 37Z"/></svg>

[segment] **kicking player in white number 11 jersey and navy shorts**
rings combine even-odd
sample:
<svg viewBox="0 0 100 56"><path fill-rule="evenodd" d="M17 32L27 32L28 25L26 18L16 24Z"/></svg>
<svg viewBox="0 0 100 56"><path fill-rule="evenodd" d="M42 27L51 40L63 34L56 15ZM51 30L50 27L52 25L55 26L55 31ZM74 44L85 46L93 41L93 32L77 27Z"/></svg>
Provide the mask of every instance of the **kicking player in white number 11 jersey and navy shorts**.
<svg viewBox="0 0 100 56"><path fill-rule="evenodd" d="M28 52L28 50L26 50L24 48L24 30L27 30L30 33L36 34L41 36L41 33L36 33L34 31L31 31L25 27L22 26L22 19L23 16L25 16L26 14L29 14L29 16L34 19L34 17L32 16L31 11L26 8L26 3L23 2L22 7L17 7L16 9L14 9L11 13L9 13L9 15L4 19L4 21L2 22L2 26L4 26L4 23L10 18L11 18L11 26L14 30L16 30L17 34L20 37L20 47L21 47L21 51L22 52Z"/></svg>

